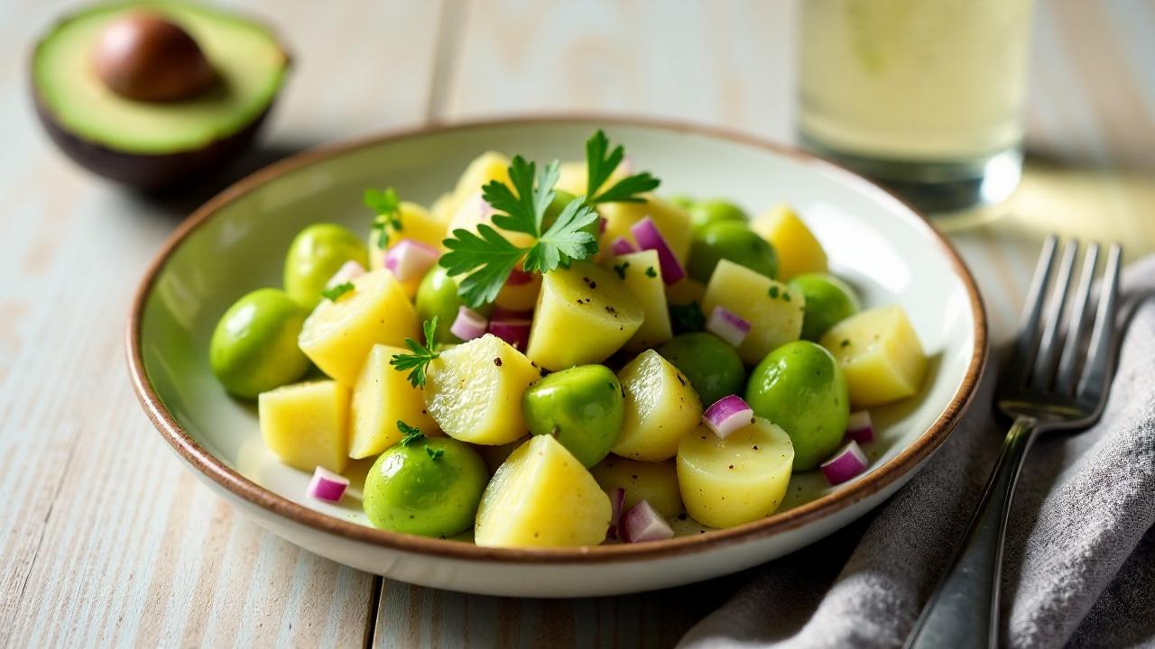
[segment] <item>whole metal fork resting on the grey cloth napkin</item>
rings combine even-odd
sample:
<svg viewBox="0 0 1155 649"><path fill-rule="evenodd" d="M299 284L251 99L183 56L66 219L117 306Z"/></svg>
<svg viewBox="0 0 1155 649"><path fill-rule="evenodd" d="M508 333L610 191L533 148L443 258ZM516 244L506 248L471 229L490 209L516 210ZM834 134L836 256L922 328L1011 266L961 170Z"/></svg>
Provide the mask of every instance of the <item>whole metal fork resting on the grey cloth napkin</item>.
<svg viewBox="0 0 1155 649"><path fill-rule="evenodd" d="M1064 246L1049 291L1057 249L1058 238L1049 237L997 386L994 404L1013 424L962 545L907 639L909 649L998 644L1003 538L1023 457L1040 433L1086 428L1103 412L1115 366L1122 248L1115 244L1108 251L1094 308L1098 245L1087 248L1074 291L1078 241ZM1065 309L1072 293L1074 303ZM1091 312L1094 326L1085 343Z"/></svg>

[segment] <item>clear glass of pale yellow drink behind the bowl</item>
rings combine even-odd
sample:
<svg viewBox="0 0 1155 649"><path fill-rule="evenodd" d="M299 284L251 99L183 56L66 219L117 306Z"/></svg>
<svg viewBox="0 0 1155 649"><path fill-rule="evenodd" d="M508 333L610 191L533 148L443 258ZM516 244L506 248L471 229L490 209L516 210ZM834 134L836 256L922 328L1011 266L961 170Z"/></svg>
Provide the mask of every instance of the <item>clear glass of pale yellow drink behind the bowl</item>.
<svg viewBox="0 0 1155 649"><path fill-rule="evenodd" d="M899 182L982 181L1006 155L1018 165L1031 9L1031 0L803 0L804 141Z"/></svg>

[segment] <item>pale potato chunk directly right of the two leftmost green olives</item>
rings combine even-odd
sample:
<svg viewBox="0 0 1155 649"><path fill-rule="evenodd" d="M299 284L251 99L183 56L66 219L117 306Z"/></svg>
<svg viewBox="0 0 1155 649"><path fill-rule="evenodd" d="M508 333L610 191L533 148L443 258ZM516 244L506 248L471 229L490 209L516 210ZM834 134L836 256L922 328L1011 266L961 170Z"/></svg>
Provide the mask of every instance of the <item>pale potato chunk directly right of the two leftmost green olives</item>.
<svg viewBox="0 0 1155 649"><path fill-rule="evenodd" d="M417 338L417 312L388 270L366 273L353 290L321 300L305 320L297 344L322 372L352 386L375 344L401 346Z"/></svg>

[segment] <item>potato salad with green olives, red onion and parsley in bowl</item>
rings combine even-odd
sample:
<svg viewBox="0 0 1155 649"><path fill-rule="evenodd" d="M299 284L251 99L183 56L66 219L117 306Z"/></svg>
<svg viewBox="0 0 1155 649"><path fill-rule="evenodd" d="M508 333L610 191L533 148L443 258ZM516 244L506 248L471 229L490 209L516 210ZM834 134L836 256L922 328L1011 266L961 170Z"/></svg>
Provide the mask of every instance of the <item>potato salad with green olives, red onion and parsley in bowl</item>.
<svg viewBox="0 0 1155 649"><path fill-rule="evenodd" d="M907 314L864 308L790 207L658 187L598 130L580 162L485 152L429 208L367 189L367 239L299 232L213 372L310 497L364 460L373 525L484 546L742 525L796 472L866 471L870 409L926 372Z"/></svg>

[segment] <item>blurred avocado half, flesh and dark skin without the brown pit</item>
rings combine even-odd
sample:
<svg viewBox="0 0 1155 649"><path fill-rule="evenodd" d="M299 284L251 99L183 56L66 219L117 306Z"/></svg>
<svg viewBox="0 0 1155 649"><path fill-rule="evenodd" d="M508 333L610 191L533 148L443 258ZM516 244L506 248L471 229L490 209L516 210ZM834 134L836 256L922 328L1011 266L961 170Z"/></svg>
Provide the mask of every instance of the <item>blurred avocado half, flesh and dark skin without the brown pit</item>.
<svg viewBox="0 0 1155 649"><path fill-rule="evenodd" d="M192 37L211 67L211 82L198 83L188 97L165 100L113 90L107 75L102 79L99 50L107 45L110 27L141 16ZM37 43L31 77L40 121L66 154L99 176L156 189L195 179L244 149L288 66L276 37L256 22L195 5L133 2L64 18Z"/></svg>

